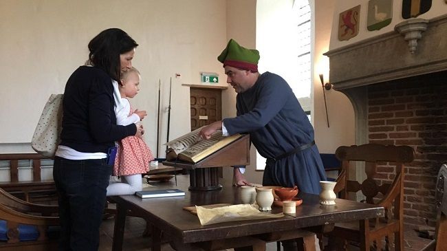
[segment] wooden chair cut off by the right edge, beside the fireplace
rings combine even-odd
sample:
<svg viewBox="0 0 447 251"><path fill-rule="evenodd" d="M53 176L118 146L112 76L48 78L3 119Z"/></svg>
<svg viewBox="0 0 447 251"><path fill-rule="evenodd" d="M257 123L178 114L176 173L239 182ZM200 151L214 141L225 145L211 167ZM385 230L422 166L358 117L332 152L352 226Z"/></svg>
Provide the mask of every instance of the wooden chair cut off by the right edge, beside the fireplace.
<svg viewBox="0 0 447 251"><path fill-rule="evenodd" d="M437 224L435 239L431 241L422 251L444 251L447 250L447 242L439 241L447 236L447 164L443 164L437 175L436 182L436 207Z"/></svg>

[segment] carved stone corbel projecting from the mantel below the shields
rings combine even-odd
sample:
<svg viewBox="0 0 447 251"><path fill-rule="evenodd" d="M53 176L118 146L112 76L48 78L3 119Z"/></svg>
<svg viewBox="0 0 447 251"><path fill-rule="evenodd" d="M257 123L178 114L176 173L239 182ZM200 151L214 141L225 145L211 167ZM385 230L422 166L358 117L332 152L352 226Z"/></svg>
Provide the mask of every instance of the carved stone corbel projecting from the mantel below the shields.
<svg viewBox="0 0 447 251"><path fill-rule="evenodd" d="M402 34L405 41L408 41L411 54L416 51L417 39L421 39L422 32L427 30L427 23L426 19L408 19L395 25L394 30Z"/></svg>

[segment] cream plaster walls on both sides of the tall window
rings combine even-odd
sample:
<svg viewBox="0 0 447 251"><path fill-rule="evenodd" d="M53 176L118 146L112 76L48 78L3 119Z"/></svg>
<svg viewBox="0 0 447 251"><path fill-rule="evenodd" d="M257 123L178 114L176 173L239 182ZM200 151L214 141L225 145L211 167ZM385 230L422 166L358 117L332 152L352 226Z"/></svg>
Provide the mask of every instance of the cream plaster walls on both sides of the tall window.
<svg viewBox="0 0 447 251"><path fill-rule="evenodd" d="M290 0L285 0L290 2ZM329 48L332 0L314 5L315 62ZM199 72L217 72L225 83L217 56L228 39L256 47L256 0L118 0L0 1L0 153L32 152L29 142L45 102L53 93L62 93L70 74L87 59L87 43L98 32L118 27L140 46L133 65L142 73L141 91L131 100L146 109L145 140L155 153L158 80L162 80L162 110L168 106L169 78L173 77L170 138L190 131L189 89L183 83L199 83ZM269 69L263 69L269 70ZM341 144L353 142L353 111L342 94L326 92L330 129L327 129L319 70L314 74L314 127L322 153L333 153ZM175 73L182 77L175 78ZM325 74L326 75L326 74ZM235 91L223 90L222 116L235 116ZM350 118L352 113L352 119ZM160 141L166 141L167 113L161 114ZM352 130L351 130L352 124ZM345 143L347 142L347 143ZM163 157L160 147L160 157ZM261 183L262 171L254 171L252 148L246 176ZM232 169L224 169L231 175Z"/></svg>

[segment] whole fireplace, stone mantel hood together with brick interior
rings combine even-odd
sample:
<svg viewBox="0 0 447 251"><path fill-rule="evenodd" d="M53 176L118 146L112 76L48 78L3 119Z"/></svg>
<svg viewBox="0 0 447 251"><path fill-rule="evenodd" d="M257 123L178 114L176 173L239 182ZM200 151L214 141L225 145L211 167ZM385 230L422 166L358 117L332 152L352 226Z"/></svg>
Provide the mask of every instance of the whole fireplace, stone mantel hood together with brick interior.
<svg viewBox="0 0 447 251"><path fill-rule="evenodd" d="M356 144L408 145L404 217L413 226L435 226L435 184L447 163L447 15L431 19L411 54L398 32L382 34L325 55L334 89L351 100ZM362 173L351 173L361 179ZM378 169L382 182L395 170Z"/></svg>

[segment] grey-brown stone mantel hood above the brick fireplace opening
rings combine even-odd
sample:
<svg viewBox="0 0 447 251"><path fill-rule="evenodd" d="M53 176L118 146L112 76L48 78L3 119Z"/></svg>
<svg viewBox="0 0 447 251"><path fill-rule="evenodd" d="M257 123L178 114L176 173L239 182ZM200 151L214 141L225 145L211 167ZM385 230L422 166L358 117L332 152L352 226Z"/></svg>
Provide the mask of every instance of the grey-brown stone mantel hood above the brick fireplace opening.
<svg viewBox="0 0 447 251"><path fill-rule="evenodd" d="M388 32L330 50L329 79L336 90L361 87L447 69L447 14L430 19L417 50L398 32ZM342 91L345 92L345 91Z"/></svg>

